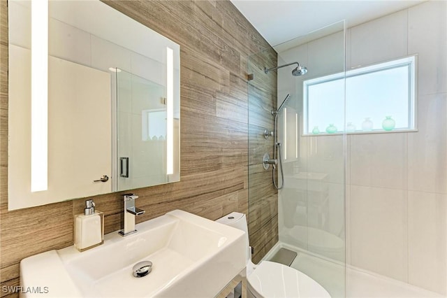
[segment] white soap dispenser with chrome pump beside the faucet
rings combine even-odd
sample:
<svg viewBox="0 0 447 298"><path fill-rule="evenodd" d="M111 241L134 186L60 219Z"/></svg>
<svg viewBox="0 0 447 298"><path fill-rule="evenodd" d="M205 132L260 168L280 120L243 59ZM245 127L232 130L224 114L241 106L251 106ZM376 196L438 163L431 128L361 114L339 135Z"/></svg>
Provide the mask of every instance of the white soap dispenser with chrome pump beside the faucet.
<svg viewBox="0 0 447 298"><path fill-rule="evenodd" d="M104 243L104 213L95 211L93 200L85 201L83 214L75 215L75 248L80 252Z"/></svg>

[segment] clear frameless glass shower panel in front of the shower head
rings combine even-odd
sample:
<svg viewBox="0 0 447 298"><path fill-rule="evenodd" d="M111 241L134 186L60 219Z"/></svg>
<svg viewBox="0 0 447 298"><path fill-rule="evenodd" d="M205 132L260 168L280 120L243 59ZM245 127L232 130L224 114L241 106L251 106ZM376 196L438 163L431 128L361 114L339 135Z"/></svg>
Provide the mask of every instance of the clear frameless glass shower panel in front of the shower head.
<svg viewBox="0 0 447 298"><path fill-rule="evenodd" d="M295 38L249 56L249 235L254 262L270 260L281 248L297 253L291 267L320 283L332 297L346 296L346 215L344 85L323 99L306 81L344 73L344 22ZM276 57L275 57L276 56ZM265 73L264 69L298 62L305 76L293 76L296 65ZM274 92L272 92L274 90ZM315 92L314 92L315 93ZM289 96L274 129L271 110ZM322 95L323 96L323 95ZM330 106L328 106L330 102ZM321 115L323 111L331 113ZM316 114L320 113L318 117ZM315 119L324 120L317 124ZM336 118L336 119L335 119ZM306 125L311 130L303 129ZM263 167L263 155L274 155L281 143L281 162ZM279 159L279 155L277 156ZM281 174L282 167L282 174ZM276 190L274 178L284 187ZM281 188L281 187L280 187Z"/></svg>

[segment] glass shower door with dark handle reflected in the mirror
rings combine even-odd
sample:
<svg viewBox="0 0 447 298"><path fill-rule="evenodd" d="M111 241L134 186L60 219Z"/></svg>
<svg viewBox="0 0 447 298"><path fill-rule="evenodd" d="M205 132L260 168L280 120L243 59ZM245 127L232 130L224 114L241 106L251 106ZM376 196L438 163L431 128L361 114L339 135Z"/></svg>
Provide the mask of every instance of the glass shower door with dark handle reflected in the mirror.
<svg viewBox="0 0 447 298"><path fill-rule="evenodd" d="M117 80L117 190L178 180L168 170L168 157L179 168L179 152L168 152L166 87L127 71ZM174 139L179 139L179 119L173 119ZM176 158L177 157L177 158Z"/></svg>

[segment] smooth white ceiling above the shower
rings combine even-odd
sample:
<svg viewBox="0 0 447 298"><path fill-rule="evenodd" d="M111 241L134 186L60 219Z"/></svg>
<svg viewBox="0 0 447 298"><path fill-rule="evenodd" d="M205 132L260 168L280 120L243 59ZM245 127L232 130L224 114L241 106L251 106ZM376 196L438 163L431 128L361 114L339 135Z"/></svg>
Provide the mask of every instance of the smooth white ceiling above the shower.
<svg viewBox="0 0 447 298"><path fill-rule="evenodd" d="M346 20L349 28L425 0L230 1L275 46L340 20Z"/></svg>

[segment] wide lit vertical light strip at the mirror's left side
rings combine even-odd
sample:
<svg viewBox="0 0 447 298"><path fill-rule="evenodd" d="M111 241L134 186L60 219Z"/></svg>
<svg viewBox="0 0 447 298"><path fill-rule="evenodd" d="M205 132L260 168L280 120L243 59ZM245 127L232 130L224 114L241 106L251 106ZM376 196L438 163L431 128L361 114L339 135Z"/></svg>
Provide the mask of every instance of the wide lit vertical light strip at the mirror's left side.
<svg viewBox="0 0 447 298"><path fill-rule="evenodd" d="M31 1L31 192L48 185L48 1Z"/></svg>

